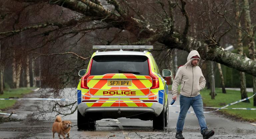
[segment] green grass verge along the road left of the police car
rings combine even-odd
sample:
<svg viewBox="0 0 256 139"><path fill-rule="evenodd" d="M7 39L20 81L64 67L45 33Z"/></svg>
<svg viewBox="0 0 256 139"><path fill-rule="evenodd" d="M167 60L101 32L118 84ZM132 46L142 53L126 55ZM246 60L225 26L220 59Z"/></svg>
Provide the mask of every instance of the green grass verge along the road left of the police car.
<svg viewBox="0 0 256 139"><path fill-rule="evenodd" d="M19 97L21 98L23 94L32 92L33 87L23 87L17 89L8 89L4 90L4 94L0 95L0 98L9 98L9 97ZM17 100L0 100L0 109L6 109L12 107Z"/></svg>

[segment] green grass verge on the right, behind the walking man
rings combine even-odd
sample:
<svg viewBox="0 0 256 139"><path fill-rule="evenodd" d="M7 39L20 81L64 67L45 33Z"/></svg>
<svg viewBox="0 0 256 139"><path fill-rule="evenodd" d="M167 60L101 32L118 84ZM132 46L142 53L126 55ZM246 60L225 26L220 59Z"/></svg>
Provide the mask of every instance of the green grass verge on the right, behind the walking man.
<svg viewBox="0 0 256 139"><path fill-rule="evenodd" d="M222 93L221 88L216 88L215 91L217 93L217 96L215 96L215 99L211 99L211 96L209 95L210 90L205 89L200 92L205 106L223 107L226 104L229 104L241 99L240 91L226 90L227 91L226 94ZM248 92L247 94L248 94L248 97L253 95L252 92ZM256 106L253 106L253 97L250 98L249 100L250 100L250 103L239 102L234 105L228 106L227 108L256 108ZM256 110L222 109L220 111L226 115L229 115L238 119L256 122Z"/></svg>

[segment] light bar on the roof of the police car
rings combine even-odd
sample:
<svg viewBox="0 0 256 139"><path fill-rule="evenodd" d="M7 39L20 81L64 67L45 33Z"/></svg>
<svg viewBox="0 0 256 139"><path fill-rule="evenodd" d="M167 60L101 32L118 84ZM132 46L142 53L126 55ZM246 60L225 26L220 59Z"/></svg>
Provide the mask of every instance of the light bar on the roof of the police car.
<svg viewBox="0 0 256 139"><path fill-rule="evenodd" d="M151 45L94 45L92 49L153 49Z"/></svg>

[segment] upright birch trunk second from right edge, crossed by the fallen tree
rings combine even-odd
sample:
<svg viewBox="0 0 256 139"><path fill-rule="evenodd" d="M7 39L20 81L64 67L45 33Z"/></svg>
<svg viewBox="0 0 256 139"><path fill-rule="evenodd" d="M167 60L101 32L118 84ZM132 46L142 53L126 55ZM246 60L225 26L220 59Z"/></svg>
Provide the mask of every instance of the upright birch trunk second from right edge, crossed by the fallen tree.
<svg viewBox="0 0 256 139"><path fill-rule="evenodd" d="M236 5L236 16L235 19L238 21L236 34L237 34L237 53L240 55L243 55L243 42L242 42L242 31L241 31L241 22L240 22L240 9L239 9L239 0L235 1ZM240 71L240 93L241 93L241 99L244 99L248 97L247 91L246 91L246 78L245 73ZM250 103L250 100L245 100L243 102Z"/></svg>

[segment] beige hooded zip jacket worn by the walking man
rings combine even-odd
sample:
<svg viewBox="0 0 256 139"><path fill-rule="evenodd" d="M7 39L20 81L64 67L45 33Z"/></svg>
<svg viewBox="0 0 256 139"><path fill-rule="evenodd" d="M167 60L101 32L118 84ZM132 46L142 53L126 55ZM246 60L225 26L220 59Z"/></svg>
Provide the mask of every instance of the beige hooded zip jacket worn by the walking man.
<svg viewBox="0 0 256 139"><path fill-rule="evenodd" d="M199 58L192 58L195 56L198 56ZM188 55L187 63L178 68L172 83L173 96L177 96L180 82L180 94L183 96L197 96L200 94L199 91L205 87L206 80L203 76L202 70L198 66L191 65L191 62L194 59L198 59L200 61L200 55L196 50L191 51Z"/></svg>

